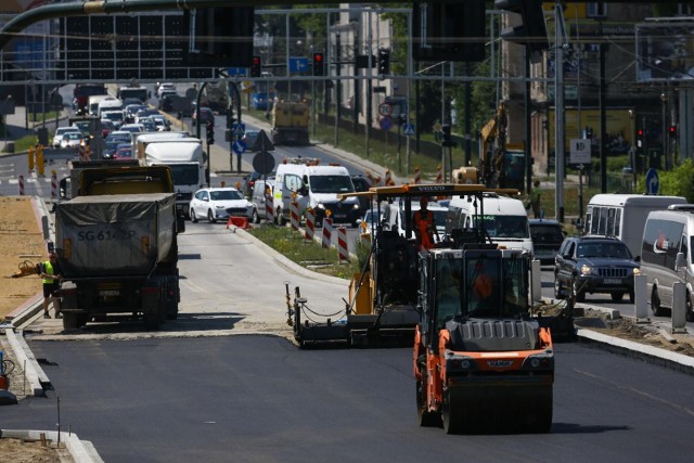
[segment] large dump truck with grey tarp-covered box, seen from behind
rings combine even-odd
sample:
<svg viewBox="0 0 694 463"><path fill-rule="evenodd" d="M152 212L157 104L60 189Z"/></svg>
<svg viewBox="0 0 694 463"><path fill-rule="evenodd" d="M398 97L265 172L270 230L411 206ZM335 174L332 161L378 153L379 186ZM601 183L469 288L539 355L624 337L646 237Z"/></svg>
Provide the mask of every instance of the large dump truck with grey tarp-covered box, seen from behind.
<svg viewBox="0 0 694 463"><path fill-rule="evenodd" d="M147 330L175 320L184 222L171 170L83 168L77 192L54 209L64 329L111 314L142 318Z"/></svg>

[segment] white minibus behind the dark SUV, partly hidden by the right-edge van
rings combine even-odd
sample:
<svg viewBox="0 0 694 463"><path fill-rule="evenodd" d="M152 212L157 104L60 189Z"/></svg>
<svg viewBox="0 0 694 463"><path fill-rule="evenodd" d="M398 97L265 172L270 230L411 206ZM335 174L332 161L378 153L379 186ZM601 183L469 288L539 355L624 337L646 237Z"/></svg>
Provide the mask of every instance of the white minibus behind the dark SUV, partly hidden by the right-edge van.
<svg viewBox="0 0 694 463"><path fill-rule="evenodd" d="M648 213L667 209L671 204L686 204L686 200L646 194L596 194L586 207L583 231L590 235L616 236L632 255L639 256Z"/></svg>

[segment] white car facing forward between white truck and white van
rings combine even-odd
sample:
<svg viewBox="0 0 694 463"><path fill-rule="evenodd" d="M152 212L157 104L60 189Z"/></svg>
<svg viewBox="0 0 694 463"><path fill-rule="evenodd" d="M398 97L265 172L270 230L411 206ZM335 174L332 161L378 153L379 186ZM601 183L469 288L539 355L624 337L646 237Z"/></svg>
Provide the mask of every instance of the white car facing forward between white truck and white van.
<svg viewBox="0 0 694 463"><path fill-rule="evenodd" d="M235 188L204 188L197 190L190 203L191 221L207 217L209 223L229 217L245 217L255 220L255 207ZM257 214L257 213L256 213Z"/></svg>

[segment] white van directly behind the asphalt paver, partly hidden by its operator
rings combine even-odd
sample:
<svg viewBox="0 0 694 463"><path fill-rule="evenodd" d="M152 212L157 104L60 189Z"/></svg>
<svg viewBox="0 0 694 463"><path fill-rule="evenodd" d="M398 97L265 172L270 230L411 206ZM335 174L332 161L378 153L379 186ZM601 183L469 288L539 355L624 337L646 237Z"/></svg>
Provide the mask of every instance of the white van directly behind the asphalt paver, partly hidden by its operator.
<svg viewBox="0 0 694 463"><path fill-rule="evenodd" d="M492 243L535 255L528 213L520 200L487 192L483 204L477 204L472 196L453 196L448 205L446 233L479 229L479 220Z"/></svg>

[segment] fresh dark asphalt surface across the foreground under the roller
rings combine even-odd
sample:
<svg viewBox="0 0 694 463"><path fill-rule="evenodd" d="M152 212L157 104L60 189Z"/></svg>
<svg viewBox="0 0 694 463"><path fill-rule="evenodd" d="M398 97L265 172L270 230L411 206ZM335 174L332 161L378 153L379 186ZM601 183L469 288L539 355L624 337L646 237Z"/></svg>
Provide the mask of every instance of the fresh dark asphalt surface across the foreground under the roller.
<svg viewBox="0 0 694 463"><path fill-rule="evenodd" d="M299 350L230 336L30 342L55 387L2 410L107 462L691 461L694 378L558 345L549 435L448 436L415 423L410 349Z"/></svg>

